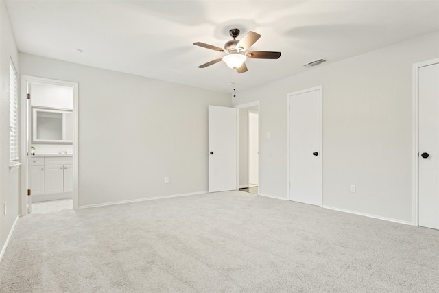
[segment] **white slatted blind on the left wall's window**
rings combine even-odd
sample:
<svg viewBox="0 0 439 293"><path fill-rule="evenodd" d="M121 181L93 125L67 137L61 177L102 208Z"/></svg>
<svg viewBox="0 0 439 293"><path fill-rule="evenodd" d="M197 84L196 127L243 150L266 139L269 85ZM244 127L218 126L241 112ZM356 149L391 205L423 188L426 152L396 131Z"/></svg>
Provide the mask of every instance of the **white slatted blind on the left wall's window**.
<svg viewBox="0 0 439 293"><path fill-rule="evenodd" d="M10 113L9 113L9 163L19 163L19 99L17 73L12 61L9 63Z"/></svg>

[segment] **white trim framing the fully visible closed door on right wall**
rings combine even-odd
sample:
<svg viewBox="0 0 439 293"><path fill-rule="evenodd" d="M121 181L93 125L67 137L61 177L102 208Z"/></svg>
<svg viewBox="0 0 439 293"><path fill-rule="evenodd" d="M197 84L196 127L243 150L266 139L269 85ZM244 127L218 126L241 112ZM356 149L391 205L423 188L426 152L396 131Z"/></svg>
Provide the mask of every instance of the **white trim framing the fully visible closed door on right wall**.
<svg viewBox="0 0 439 293"><path fill-rule="evenodd" d="M289 165L289 115L291 115L291 111L289 110L289 107L291 106L289 104L289 97L293 95L299 95L301 93L308 93L310 91L319 91L319 99L320 99L320 178L319 178L319 189L320 189L320 197L321 197L321 204L320 207L323 206L323 86L314 86L309 89L303 89L300 91L294 91L292 93L287 93L287 198L288 200L291 200L290 198L290 183L289 183L289 174L290 174L290 165Z"/></svg>

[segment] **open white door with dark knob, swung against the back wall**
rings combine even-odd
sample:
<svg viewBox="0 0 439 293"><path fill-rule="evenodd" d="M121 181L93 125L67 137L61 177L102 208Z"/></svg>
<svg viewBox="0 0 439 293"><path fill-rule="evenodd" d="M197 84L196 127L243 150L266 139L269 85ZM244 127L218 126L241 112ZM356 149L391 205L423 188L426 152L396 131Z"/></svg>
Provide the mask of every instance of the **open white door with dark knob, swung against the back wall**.
<svg viewBox="0 0 439 293"><path fill-rule="evenodd" d="M237 189L237 109L209 106L209 192Z"/></svg>

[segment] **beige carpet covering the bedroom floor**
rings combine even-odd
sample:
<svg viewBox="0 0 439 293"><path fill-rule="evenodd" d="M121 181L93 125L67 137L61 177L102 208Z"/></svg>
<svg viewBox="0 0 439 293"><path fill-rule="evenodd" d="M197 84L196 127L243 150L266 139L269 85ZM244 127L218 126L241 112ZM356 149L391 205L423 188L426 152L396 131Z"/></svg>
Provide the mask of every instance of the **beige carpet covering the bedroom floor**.
<svg viewBox="0 0 439 293"><path fill-rule="evenodd" d="M439 292L439 231L241 191L28 215L0 292Z"/></svg>

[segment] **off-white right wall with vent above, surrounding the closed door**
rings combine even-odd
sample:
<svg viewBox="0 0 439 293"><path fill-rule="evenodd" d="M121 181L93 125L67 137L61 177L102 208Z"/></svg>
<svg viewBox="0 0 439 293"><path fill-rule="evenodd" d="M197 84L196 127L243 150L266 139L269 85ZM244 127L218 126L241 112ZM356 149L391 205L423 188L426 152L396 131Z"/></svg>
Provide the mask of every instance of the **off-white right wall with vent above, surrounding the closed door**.
<svg viewBox="0 0 439 293"><path fill-rule="evenodd" d="M435 32L240 92L234 104L261 100L261 194L287 199L287 93L322 85L323 204L411 222L412 65L438 44Z"/></svg>

